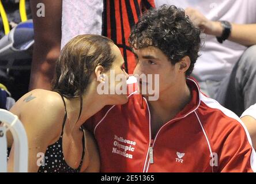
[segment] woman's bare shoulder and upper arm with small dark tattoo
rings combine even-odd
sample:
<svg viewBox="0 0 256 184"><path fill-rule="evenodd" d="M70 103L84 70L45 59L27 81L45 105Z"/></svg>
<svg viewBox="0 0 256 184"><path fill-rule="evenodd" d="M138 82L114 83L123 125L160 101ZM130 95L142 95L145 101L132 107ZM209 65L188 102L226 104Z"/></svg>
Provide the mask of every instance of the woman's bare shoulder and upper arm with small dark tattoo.
<svg viewBox="0 0 256 184"><path fill-rule="evenodd" d="M37 172L42 155L48 145L54 143L61 134L61 125L65 111L56 108L55 101L48 98L47 92L33 90L25 94L10 109L16 114L28 137L28 172ZM13 171L14 149L9 155L8 171ZM41 156L39 156L41 155Z"/></svg>

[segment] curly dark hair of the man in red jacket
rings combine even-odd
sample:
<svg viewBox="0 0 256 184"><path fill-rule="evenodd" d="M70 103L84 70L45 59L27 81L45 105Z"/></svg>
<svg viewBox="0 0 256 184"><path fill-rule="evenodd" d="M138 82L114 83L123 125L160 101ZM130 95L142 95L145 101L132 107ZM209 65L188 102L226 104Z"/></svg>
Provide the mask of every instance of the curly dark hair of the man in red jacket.
<svg viewBox="0 0 256 184"><path fill-rule="evenodd" d="M189 76L199 56L200 34L201 30L195 28L183 9L162 5L143 14L131 30L129 44L135 49L157 47L172 64L189 56L191 64L186 71Z"/></svg>

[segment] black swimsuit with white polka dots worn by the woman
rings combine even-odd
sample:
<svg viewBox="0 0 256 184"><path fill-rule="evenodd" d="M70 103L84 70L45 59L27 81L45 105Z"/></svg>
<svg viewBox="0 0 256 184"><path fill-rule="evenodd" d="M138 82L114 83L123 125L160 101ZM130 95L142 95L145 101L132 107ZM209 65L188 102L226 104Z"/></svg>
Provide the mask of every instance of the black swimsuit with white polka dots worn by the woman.
<svg viewBox="0 0 256 184"><path fill-rule="evenodd" d="M62 97L62 95L61 95L61 97ZM84 136L84 131L82 131L82 128L81 128L81 131L83 132L83 135L82 135L82 158L81 158L78 168L70 167L66 163L64 155L63 155L62 137L63 137L63 128L64 128L65 121L67 118L67 111L66 111L66 104L65 104L63 97L62 97L62 100L65 105L65 117L63 120L63 124L62 124L61 137L59 137L59 140L56 143L49 145L48 148L46 149L46 153L44 154L44 164L42 164L42 166L39 167L38 173L78 173L81 170L82 160L85 155L85 152L84 152L85 136Z"/></svg>

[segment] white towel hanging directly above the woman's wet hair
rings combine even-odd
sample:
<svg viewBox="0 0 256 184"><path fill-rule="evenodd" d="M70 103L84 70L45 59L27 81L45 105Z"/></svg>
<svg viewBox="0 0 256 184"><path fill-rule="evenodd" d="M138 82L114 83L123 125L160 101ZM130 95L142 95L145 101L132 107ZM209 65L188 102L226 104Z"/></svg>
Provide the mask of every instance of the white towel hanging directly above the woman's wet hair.
<svg viewBox="0 0 256 184"><path fill-rule="evenodd" d="M103 0L63 0L61 48L79 34L100 34Z"/></svg>

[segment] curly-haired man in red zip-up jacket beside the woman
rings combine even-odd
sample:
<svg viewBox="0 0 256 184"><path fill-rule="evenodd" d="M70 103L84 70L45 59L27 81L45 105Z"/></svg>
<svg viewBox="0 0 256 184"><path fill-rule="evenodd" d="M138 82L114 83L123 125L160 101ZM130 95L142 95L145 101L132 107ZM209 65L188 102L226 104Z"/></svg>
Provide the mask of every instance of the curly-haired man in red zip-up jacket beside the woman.
<svg viewBox="0 0 256 184"><path fill-rule="evenodd" d="M135 24L129 43L137 60L134 74L158 75L159 81L140 80L145 94L131 94L127 104L106 106L86 121L99 145L101 171L256 171L243 122L189 78L201 39L184 11L175 6L149 10Z"/></svg>

